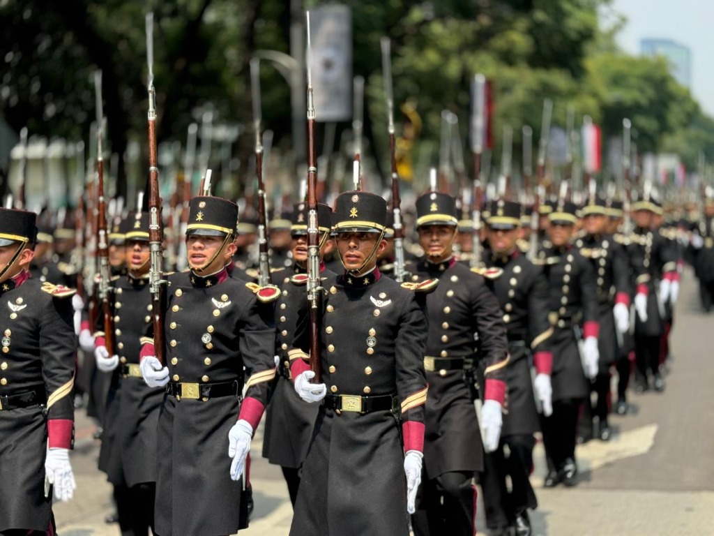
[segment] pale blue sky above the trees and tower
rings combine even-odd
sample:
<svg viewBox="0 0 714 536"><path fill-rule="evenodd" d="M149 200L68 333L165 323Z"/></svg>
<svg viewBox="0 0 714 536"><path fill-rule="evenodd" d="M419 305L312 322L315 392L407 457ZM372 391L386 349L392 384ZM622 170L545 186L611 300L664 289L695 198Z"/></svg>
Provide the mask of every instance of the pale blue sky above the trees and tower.
<svg viewBox="0 0 714 536"><path fill-rule="evenodd" d="M714 116L714 1L613 0L610 8L628 21L617 41L630 54L640 54L640 39L659 37L688 46L692 59L694 98Z"/></svg>

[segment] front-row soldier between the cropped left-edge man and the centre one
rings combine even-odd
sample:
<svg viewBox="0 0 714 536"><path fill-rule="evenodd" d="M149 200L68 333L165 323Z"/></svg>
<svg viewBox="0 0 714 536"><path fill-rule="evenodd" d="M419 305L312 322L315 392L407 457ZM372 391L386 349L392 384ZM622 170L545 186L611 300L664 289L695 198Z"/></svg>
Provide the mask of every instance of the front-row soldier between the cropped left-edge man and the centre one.
<svg viewBox="0 0 714 536"><path fill-rule="evenodd" d="M166 386L157 430L160 535L228 535L244 522L238 480L275 377L275 329L259 287L228 277L237 221L233 202L191 199L189 269L169 276L166 294L166 364L153 337L141 349L146 383Z"/></svg>

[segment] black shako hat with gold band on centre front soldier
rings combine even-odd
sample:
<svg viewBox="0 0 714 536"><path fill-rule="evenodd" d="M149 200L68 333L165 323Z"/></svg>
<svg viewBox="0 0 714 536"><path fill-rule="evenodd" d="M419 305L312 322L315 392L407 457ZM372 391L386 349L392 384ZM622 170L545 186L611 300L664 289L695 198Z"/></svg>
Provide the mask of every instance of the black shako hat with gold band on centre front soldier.
<svg viewBox="0 0 714 536"><path fill-rule="evenodd" d="M353 190L339 194L335 202L334 231L378 232L385 230L387 202L377 194Z"/></svg>

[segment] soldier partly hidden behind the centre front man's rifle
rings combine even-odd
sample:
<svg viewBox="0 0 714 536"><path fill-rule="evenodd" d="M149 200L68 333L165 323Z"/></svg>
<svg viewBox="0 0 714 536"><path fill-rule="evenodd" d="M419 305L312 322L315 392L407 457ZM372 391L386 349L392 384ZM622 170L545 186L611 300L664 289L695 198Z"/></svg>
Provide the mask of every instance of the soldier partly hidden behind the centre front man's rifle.
<svg viewBox="0 0 714 536"><path fill-rule="evenodd" d="M273 386L271 401L266 410L266 425L263 435L263 457L272 464L280 465L288 485L290 500L295 506L300 485L300 468L312 437L318 405L306 404L293 388L290 374L288 348L293 344L298 310L307 300L307 260L308 260L308 214L304 203L293 210L292 254L295 264L291 268L281 268L273 272L273 280L281 288L281 297L276 302L276 361L278 374ZM333 247L330 239L332 209L326 204L318 204L318 222L321 233L320 252ZM321 277L335 274L321 262Z"/></svg>

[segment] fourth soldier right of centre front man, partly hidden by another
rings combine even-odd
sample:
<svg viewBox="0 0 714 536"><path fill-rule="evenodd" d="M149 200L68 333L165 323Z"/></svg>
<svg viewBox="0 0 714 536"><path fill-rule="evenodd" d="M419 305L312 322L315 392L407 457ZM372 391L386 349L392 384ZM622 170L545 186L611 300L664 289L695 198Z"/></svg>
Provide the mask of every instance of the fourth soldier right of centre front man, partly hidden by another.
<svg viewBox="0 0 714 536"><path fill-rule="evenodd" d="M628 257L623 245L607 232L608 206L605 199L591 195L581 213L585 234L575 240L575 247L583 257L590 259L595 270L600 361L598 373L590 383L590 391L595 392L596 402L593 406L590 404L590 396L585 397L578 439L593 437L593 418L597 417L597 437L608 441L612 434L608 425L610 367L615 364L620 354L622 344L618 344L618 340L622 341L624 334L630 329Z"/></svg>

